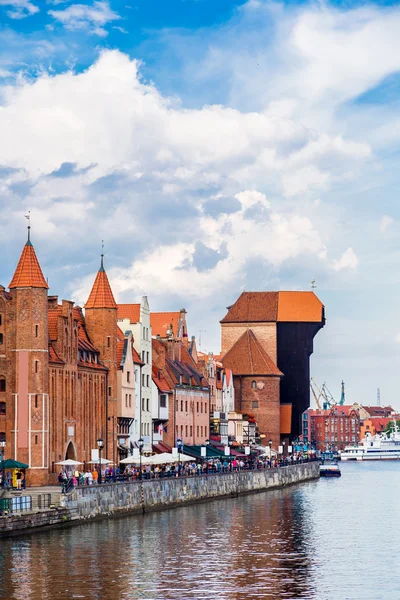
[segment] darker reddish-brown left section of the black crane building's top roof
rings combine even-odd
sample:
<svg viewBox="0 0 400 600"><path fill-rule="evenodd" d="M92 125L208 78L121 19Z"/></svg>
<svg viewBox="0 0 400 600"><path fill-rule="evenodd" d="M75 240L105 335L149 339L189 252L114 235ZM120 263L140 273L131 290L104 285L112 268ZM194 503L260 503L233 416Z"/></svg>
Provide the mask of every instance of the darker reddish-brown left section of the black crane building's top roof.
<svg viewBox="0 0 400 600"><path fill-rule="evenodd" d="M221 323L275 322L278 314L278 292L243 292Z"/></svg>

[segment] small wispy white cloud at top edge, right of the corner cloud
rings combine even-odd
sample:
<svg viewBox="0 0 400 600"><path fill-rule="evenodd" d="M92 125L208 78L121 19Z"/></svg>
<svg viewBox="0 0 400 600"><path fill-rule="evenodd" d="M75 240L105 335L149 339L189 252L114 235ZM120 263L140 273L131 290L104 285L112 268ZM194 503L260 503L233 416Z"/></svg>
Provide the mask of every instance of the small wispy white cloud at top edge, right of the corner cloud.
<svg viewBox="0 0 400 600"><path fill-rule="evenodd" d="M83 30L104 37L107 31L104 26L115 21L120 16L111 10L108 2L93 2L87 4L72 4L64 10L49 10L49 15L57 19L66 29L71 31Z"/></svg>

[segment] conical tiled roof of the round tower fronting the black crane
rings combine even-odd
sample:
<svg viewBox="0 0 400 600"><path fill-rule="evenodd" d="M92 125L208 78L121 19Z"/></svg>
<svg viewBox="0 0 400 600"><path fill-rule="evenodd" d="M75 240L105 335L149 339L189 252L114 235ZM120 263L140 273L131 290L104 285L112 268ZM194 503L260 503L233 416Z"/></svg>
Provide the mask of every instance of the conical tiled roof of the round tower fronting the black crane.
<svg viewBox="0 0 400 600"><path fill-rule="evenodd" d="M282 375L251 329L245 331L225 354L222 363L225 368L232 369L234 375Z"/></svg>

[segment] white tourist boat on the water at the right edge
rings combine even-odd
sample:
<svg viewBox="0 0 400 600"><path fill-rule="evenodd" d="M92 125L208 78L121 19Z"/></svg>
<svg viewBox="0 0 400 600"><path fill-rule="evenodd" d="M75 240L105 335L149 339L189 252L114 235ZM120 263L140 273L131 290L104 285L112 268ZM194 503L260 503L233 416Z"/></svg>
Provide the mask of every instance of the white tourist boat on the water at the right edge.
<svg viewBox="0 0 400 600"><path fill-rule="evenodd" d="M390 435L367 433L358 446L346 446L340 453L342 460L399 460L400 432L394 420L394 431Z"/></svg>

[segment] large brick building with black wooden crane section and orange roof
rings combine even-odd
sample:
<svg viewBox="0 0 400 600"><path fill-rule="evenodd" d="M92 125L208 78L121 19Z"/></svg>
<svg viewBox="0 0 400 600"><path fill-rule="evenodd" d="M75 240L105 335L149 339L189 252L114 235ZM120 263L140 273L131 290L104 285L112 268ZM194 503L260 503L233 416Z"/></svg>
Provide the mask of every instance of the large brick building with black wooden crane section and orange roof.
<svg viewBox="0 0 400 600"><path fill-rule="evenodd" d="M324 323L313 292L243 292L221 321L221 361L233 371L236 410L255 415L264 444L301 432L313 338Z"/></svg>

